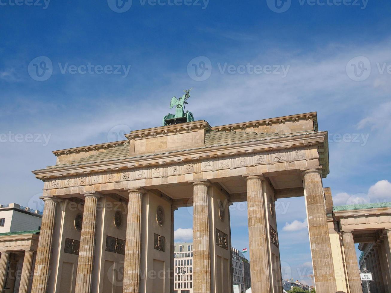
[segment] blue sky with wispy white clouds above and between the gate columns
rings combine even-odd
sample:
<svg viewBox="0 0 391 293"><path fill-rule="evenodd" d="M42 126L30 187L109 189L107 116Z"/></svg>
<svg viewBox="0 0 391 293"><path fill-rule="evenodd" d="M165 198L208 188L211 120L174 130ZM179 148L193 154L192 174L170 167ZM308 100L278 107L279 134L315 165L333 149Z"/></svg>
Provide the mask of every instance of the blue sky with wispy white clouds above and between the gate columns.
<svg viewBox="0 0 391 293"><path fill-rule="evenodd" d="M391 2L35 1L0 0L3 204L33 204L42 183L30 171L53 165L52 150L159 126L192 86L188 109L210 125L317 111L335 202L391 200ZM283 203L283 266L310 282L303 198ZM177 211L175 229L191 229L191 213ZM238 249L246 215L231 212Z"/></svg>

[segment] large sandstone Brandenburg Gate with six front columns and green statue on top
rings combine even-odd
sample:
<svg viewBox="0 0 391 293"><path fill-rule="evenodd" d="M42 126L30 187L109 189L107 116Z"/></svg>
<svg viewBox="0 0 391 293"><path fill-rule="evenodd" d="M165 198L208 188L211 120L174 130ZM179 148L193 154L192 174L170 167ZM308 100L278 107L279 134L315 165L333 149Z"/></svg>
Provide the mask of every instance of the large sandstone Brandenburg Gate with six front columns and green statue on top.
<svg viewBox="0 0 391 293"><path fill-rule="evenodd" d="M180 111L123 141L54 151L56 165L33 172L45 205L32 293L173 292L174 211L185 206L194 207L193 291L232 293L229 206L243 201L252 291L281 293L274 202L298 196L316 291L337 291L317 114L211 127Z"/></svg>

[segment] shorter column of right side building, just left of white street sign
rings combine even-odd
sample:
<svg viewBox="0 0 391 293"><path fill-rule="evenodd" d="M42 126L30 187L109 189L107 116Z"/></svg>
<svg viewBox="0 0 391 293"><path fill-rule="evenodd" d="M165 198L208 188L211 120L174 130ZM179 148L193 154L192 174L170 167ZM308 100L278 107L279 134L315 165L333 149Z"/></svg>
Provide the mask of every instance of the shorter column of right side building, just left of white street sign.
<svg viewBox="0 0 391 293"><path fill-rule="evenodd" d="M362 293L359 264L357 262L356 248L354 247L352 231L342 232L343 247L348 273L349 292Z"/></svg>

